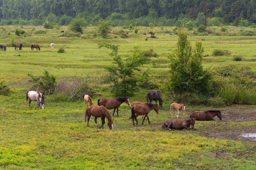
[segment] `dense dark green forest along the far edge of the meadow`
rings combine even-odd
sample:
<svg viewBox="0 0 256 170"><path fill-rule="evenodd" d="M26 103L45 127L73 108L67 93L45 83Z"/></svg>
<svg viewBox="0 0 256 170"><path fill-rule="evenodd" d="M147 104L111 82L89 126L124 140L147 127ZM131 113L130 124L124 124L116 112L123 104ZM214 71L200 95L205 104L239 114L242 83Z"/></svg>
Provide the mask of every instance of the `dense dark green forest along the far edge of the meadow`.
<svg viewBox="0 0 256 170"><path fill-rule="evenodd" d="M67 25L82 17L92 25L109 19L118 21L115 25L133 21L171 26L184 18L197 19L199 13L214 18L215 25L238 25L239 20L251 25L256 23L256 0L0 0L1 25L42 25L46 19Z"/></svg>

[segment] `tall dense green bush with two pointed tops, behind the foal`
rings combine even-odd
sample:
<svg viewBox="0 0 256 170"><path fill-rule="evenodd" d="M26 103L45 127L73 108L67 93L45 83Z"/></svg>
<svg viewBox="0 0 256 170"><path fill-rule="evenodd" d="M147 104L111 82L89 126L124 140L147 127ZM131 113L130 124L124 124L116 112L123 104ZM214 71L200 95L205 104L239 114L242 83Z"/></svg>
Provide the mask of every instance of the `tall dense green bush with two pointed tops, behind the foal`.
<svg viewBox="0 0 256 170"><path fill-rule="evenodd" d="M209 91L210 73L203 70L203 48L201 42L192 47L187 35L179 33L177 49L170 54L170 81L168 90L175 95L197 93L207 95Z"/></svg>

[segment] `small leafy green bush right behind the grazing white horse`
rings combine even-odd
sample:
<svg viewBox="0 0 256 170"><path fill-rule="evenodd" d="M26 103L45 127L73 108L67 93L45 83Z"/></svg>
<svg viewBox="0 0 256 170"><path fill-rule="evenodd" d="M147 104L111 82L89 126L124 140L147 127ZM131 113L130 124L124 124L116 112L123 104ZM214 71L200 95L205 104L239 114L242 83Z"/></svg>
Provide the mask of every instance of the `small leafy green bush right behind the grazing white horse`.
<svg viewBox="0 0 256 170"><path fill-rule="evenodd" d="M48 71L45 70L42 76L34 76L29 73L28 77L30 77L30 82L33 83L33 87L40 87L42 93L50 95L55 92L56 78L50 75Z"/></svg>

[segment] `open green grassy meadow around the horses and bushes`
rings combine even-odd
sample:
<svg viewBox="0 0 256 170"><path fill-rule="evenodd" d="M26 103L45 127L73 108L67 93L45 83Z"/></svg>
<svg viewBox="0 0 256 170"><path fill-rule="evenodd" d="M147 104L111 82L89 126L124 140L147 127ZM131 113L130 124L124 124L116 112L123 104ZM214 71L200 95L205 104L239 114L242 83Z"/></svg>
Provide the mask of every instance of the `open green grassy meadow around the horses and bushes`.
<svg viewBox="0 0 256 170"><path fill-rule="evenodd" d="M20 28L17 26L16 28ZM80 38L61 37L67 27L45 30L38 26L23 26L26 37L15 36L14 26L2 26L0 44L7 44L7 52L0 51L0 81L11 88L11 95L0 95L0 169L256 169L255 140L241 138L246 132L256 131L255 105L231 105L225 108L210 108L204 105L187 105L181 117L187 118L193 110L222 110L223 120L196 122L195 130L163 131L164 120L174 117L169 111L167 96L159 114L150 113L150 121L133 126L129 120L130 108L121 105L119 117L113 117L113 130L97 129L94 118L90 126L84 122L85 106L82 101L57 102L53 95L46 96L44 110L36 103L26 103L26 91L32 87L28 73L42 75L44 70L57 77L57 81L71 77L94 77L97 95L114 97L100 78L104 66L112 64L110 50L98 48L100 43L119 45L119 53L129 56L135 46L141 50L150 48L158 54L151 58L143 70L164 76L168 73L168 54L176 48L174 28L139 27L139 33L129 32L129 38L110 35L109 39L93 38L95 27L84 29ZM115 32L123 28L113 28ZM203 67L245 65L256 71L256 36L239 36L241 30L255 28L228 27L226 32L212 28L220 36L189 35L191 44L201 41L205 49ZM46 34L34 34L45 30ZM157 38L142 36L153 31ZM147 35L149 36L149 35ZM15 51L8 44L23 43L22 51ZM51 42L55 43L53 50ZM40 44L41 51L32 51L31 44ZM64 48L65 53L58 53ZM243 56L243 61L233 56L212 56L214 49L229 50ZM142 89L130 101L145 101L148 90ZM112 110L110 112L113 112ZM100 120L100 119L98 119ZM100 122L100 121L99 121ZM101 123L101 122L100 122ZM233 136L232 136L233 135Z"/></svg>

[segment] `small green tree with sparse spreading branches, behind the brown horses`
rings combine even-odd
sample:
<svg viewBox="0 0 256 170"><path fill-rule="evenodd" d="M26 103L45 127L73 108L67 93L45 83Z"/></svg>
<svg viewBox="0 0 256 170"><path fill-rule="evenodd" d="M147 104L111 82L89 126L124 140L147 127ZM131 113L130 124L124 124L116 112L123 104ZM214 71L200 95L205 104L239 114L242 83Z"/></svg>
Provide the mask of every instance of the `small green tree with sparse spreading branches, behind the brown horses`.
<svg viewBox="0 0 256 170"><path fill-rule="evenodd" d="M114 65L106 67L106 71L109 73L107 81L113 83L113 93L117 96L133 95L137 89L135 72L140 71L139 67L146 64L150 59L142 56L138 48L135 48L132 56L123 59L118 54L118 46L99 44L99 47L112 50L110 56L113 56Z"/></svg>

